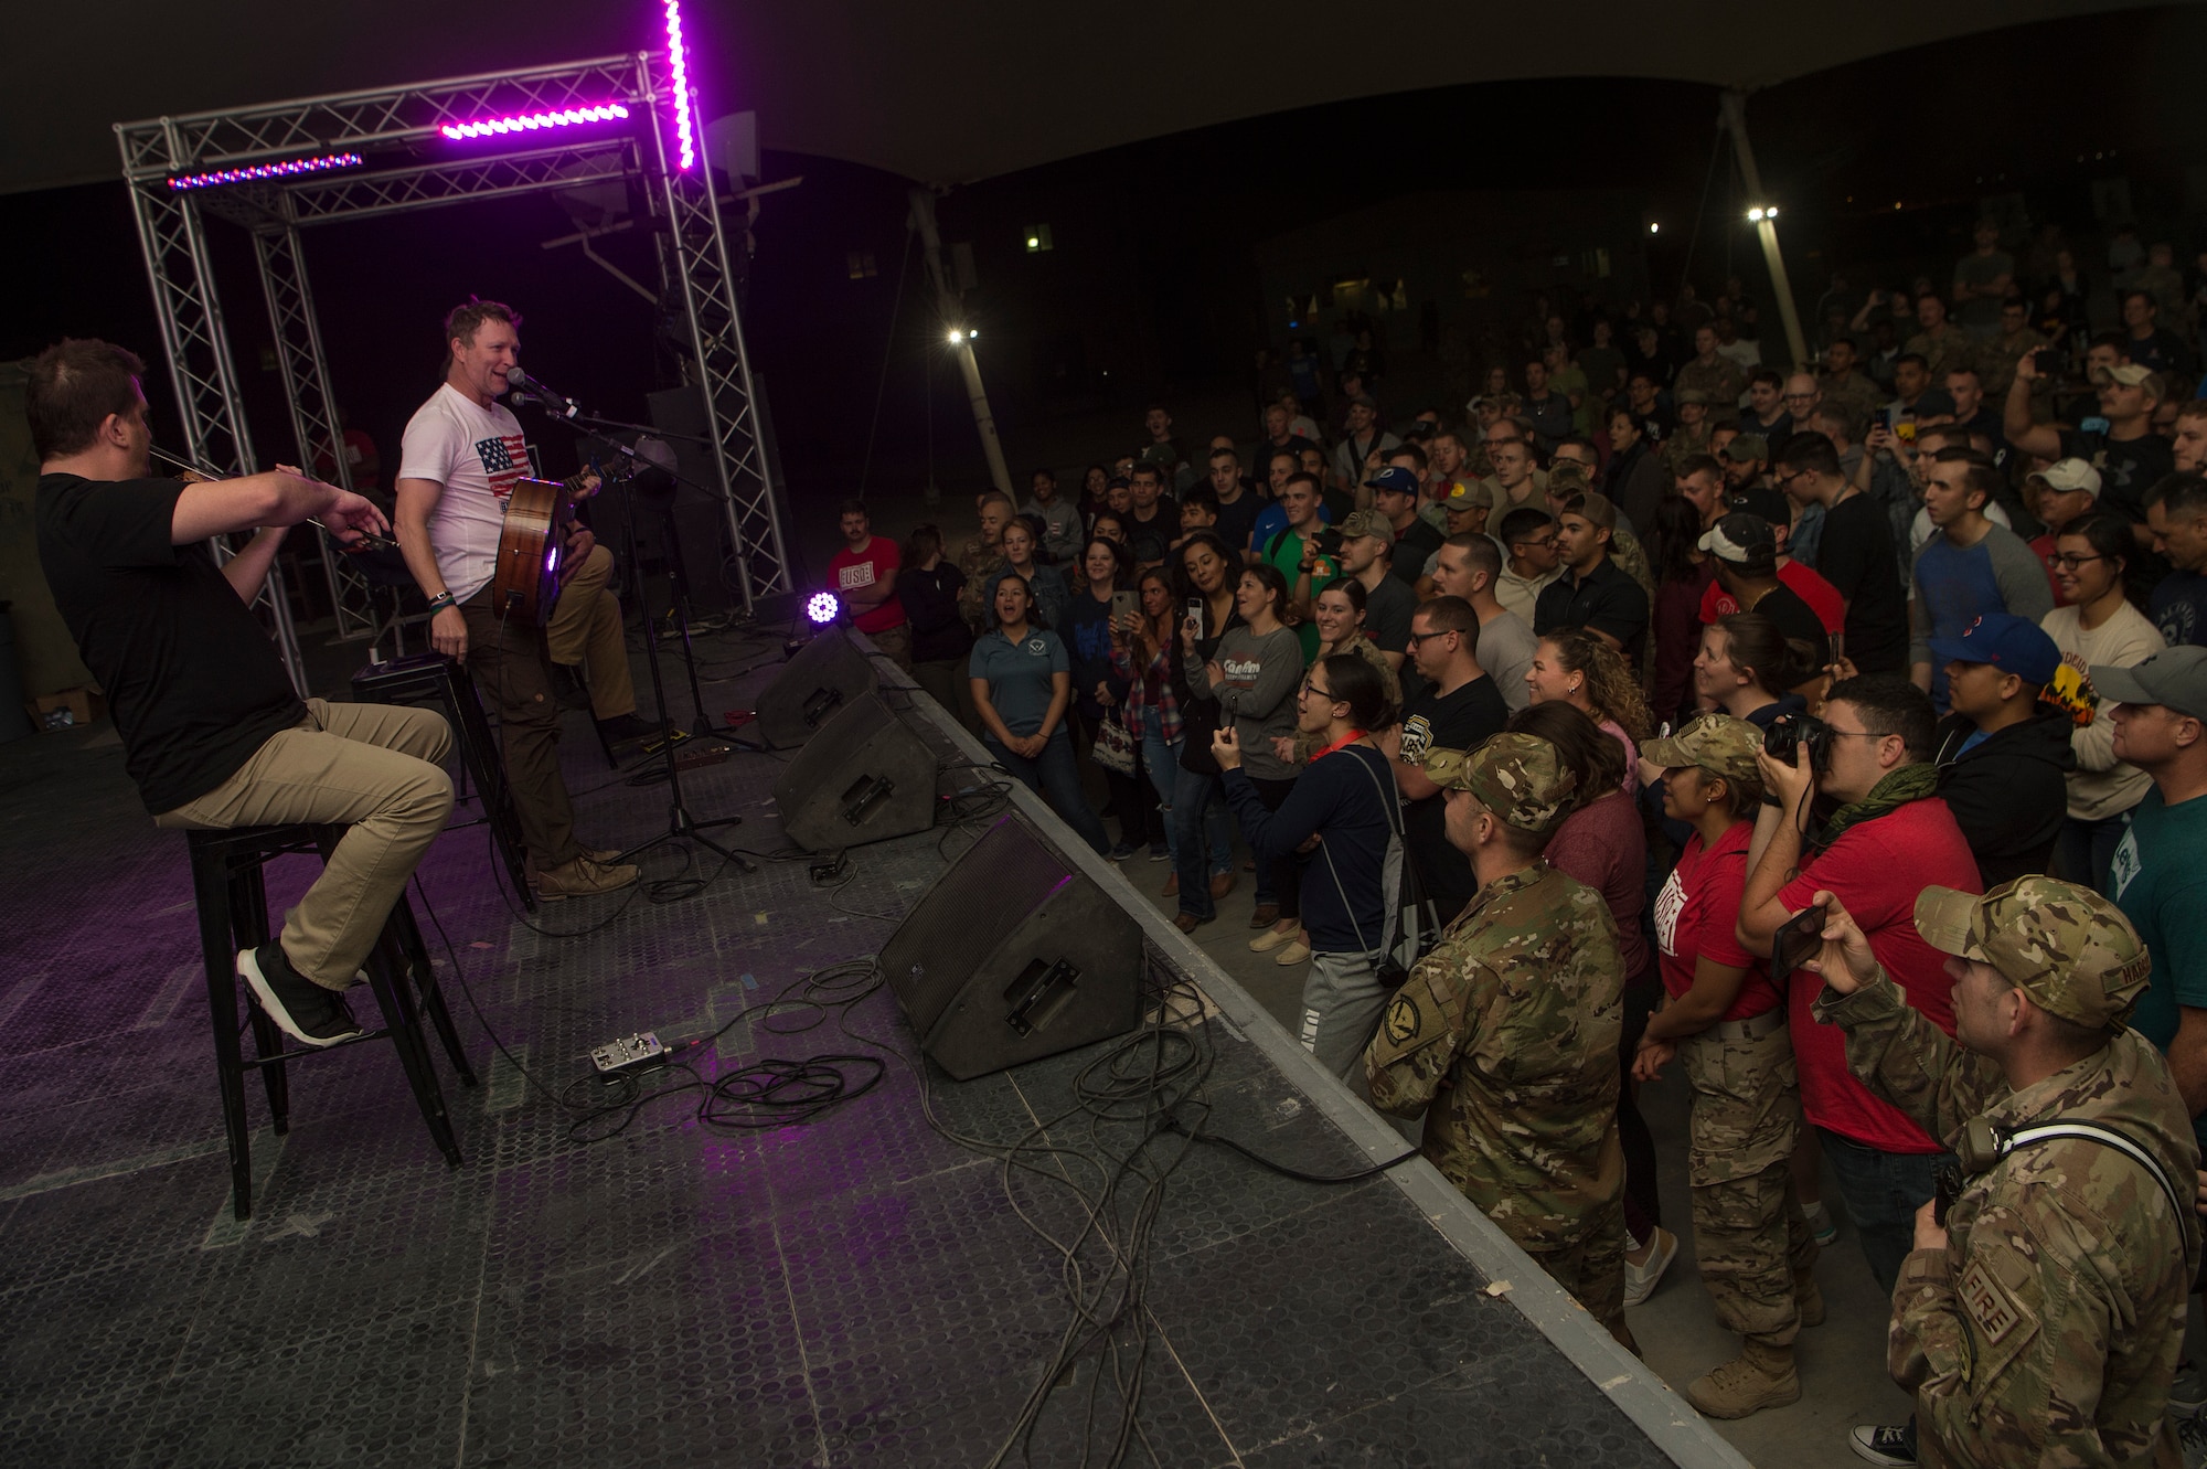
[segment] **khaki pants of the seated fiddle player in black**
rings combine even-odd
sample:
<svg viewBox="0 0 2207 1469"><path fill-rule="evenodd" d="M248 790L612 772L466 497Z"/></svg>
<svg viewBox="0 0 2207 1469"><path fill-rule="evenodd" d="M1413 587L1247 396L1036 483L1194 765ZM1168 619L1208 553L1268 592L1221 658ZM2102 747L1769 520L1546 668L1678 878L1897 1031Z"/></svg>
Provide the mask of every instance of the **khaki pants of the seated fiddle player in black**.
<svg viewBox="0 0 2207 1469"><path fill-rule="evenodd" d="M159 827L349 825L322 876L285 913L291 968L342 990L366 962L415 862L452 814L444 715L393 704L307 699L307 719L271 735L205 796L154 816Z"/></svg>

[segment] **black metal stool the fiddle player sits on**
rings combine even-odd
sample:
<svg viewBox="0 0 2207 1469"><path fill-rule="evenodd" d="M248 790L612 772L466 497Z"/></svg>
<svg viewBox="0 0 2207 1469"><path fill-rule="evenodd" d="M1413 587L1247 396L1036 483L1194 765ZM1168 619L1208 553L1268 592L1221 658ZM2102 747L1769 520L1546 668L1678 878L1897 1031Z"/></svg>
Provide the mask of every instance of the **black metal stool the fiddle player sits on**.
<svg viewBox="0 0 2207 1469"><path fill-rule="evenodd" d="M413 909L402 891L391 904L391 918L369 953L369 988L384 1012L384 1028L369 1030L351 1041L318 1050L285 1050L285 1034L260 1008L252 986L238 982L236 964L241 948L258 948L269 942L267 884L260 869L269 858L291 851L316 851L322 860L335 851L344 827L296 823L282 827L232 827L227 832L190 832L192 891L199 900L199 946L207 964L207 1004L214 1015L214 1065L223 1087L223 1127L230 1134L230 1209L236 1218L252 1218L254 1211L254 1167L252 1134L245 1125L245 1072L258 1070L269 1094L269 1118L278 1134L291 1129L291 1092L285 1065L289 1061L329 1054L358 1046L360 1041L388 1039L406 1068L406 1083L428 1134L444 1151L448 1165L459 1167L459 1140L452 1136L452 1118L444 1109L444 1087L437 1083L437 1068L430 1061L428 1043L422 1037L422 1017L415 1008L428 1010L430 1023L444 1039L444 1054L459 1072L461 1085L475 1085L468 1068L468 1052L459 1046L452 1015L444 1008L437 988L437 973L428 962L428 946L422 929L415 926ZM411 984L408 984L411 975ZM245 993L245 1019L254 1030L254 1059L245 1059L238 1046L238 990Z"/></svg>

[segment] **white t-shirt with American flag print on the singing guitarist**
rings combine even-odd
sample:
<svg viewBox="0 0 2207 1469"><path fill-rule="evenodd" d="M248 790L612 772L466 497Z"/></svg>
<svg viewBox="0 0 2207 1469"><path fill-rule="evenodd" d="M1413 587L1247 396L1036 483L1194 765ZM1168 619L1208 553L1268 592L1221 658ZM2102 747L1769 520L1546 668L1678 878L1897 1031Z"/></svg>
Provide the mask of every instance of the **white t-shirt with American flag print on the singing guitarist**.
<svg viewBox="0 0 2207 1469"><path fill-rule="evenodd" d="M428 516L437 573L457 600L481 591L499 567L505 496L530 476L530 446L521 419L505 404L479 406L441 384L411 419L399 450L399 479L444 485Z"/></svg>

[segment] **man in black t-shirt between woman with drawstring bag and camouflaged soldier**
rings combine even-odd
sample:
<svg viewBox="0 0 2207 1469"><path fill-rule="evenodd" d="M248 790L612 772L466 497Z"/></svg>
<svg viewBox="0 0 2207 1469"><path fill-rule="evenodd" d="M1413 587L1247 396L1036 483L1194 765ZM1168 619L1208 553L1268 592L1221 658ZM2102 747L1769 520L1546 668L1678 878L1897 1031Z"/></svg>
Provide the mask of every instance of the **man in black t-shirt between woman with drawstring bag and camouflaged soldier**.
<svg viewBox="0 0 2207 1469"><path fill-rule="evenodd" d="M1426 779L1428 750L1476 750L1510 723L1510 706L1479 666L1479 613L1463 598L1432 598L1410 620L1410 660L1424 686L1401 710L1401 726L1382 737L1397 761L1404 836L1441 922L1479 891L1470 858L1448 840L1441 787Z"/></svg>

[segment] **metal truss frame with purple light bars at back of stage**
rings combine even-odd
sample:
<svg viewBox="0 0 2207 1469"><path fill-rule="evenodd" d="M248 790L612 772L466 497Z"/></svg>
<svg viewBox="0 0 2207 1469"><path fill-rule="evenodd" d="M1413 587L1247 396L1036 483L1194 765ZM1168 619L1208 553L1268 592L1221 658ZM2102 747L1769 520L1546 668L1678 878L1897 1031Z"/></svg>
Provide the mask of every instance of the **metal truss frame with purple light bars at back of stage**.
<svg viewBox="0 0 2207 1469"><path fill-rule="evenodd" d="M572 190L636 179L662 229L660 276L669 309L680 300L689 329L682 373L700 384L713 441L717 490L735 549L735 591L746 613L792 589L781 529L781 492L761 439L737 307L737 274L719 223L713 174L700 157L671 165L664 101L673 95L664 53L598 57L567 66L486 73L415 86L305 97L227 112L117 124L124 181L152 285L161 346L183 410L190 457L210 470L258 468L245 401L230 351L230 326L214 287L205 216L245 227L260 269L263 304L276 333L276 364L298 463L335 463L351 487L335 390L322 344L300 232L344 221L430 210L448 203ZM516 130L497 139L448 143L439 128L483 117L521 117L622 101L627 124ZM170 179L243 170L287 159L362 154L362 165L247 183L172 190ZM216 545L227 556L225 543ZM340 637L375 637L373 585L324 538L322 567ZM307 690L282 580L271 571L260 602L291 682Z"/></svg>

